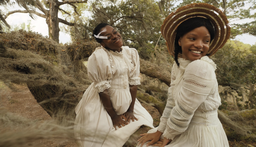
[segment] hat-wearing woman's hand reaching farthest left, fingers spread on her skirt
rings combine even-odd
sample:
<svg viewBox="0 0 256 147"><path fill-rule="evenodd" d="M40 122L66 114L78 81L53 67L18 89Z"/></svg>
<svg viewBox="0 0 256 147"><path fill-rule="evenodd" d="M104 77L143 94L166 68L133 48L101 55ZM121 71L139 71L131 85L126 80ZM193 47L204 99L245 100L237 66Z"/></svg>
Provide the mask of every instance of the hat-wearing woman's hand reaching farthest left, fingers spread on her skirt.
<svg viewBox="0 0 256 147"><path fill-rule="evenodd" d="M148 142L147 146L149 145L152 145L154 143L156 143L157 141L160 140L160 137L162 136L162 132L160 131L156 131L155 133L144 133L144 134L141 134L140 136L142 136L139 140L139 143L138 143L138 146L140 145L141 147L144 145L145 142L147 141L150 141ZM160 140L161 141L161 140Z"/></svg>

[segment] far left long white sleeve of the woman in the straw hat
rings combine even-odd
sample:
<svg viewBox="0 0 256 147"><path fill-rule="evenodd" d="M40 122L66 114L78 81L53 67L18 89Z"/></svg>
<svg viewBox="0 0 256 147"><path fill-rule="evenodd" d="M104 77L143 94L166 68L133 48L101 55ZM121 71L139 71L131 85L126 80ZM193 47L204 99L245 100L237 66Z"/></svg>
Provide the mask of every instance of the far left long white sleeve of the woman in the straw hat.
<svg viewBox="0 0 256 147"><path fill-rule="evenodd" d="M172 108L175 106L175 103L174 103L174 101L172 99L172 90L174 88L174 84L173 84L174 82L173 81L176 79L176 74L174 72L175 66L177 66L176 63L174 63L172 65L171 84L170 84L170 87L168 89L168 99L167 99L166 106L164 108L163 115L160 118L160 124L157 127L157 130L162 132L162 133L166 129L167 121L170 118L170 114L172 112Z"/></svg>

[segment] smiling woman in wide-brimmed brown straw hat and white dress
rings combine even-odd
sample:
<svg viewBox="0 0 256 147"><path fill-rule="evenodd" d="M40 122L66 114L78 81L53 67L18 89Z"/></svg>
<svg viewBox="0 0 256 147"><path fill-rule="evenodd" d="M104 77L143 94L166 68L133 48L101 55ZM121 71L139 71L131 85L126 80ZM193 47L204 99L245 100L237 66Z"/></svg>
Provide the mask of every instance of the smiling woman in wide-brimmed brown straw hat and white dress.
<svg viewBox="0 0 256 147"><path fill-rule="evenodd" d="M229 39L226 16L212 5L193 3L172 12L161 32L176 63L161 122L141 134L137 146L228 147L217 113L216 64L209 58Z"/></svg>

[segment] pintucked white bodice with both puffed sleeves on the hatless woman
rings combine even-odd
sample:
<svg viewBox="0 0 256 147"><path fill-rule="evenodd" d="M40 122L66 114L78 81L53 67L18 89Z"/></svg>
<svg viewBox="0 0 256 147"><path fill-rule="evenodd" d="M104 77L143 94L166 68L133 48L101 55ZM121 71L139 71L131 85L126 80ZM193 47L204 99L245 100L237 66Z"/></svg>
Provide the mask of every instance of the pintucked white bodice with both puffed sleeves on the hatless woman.
<svg viewBox="0 0 256 147"><path fill-rule="evenodd" d="M122 47L113 52L103 47L96 48L88 60L88 77L98 92L105 89L126 89L139 85L140 61L136 49Z"/></svg>

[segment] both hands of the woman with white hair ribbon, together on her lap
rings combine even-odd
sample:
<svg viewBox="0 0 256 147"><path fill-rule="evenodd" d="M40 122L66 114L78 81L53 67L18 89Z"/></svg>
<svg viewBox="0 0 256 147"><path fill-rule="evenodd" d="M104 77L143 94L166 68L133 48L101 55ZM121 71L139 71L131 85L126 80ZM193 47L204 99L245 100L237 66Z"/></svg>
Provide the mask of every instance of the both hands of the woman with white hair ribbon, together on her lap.
<svg viewBox="0 0 256 147"><path fill-rule="evenodd" d="M121 125L124 127L125 125L128 125L132 119L132 121L134 120L138 120L132 112L127 111L124 114L121 115L116 115L114 116L112 119L114 128L116 129L116 126L118 126L119 128L121 128Z"/></svg>

